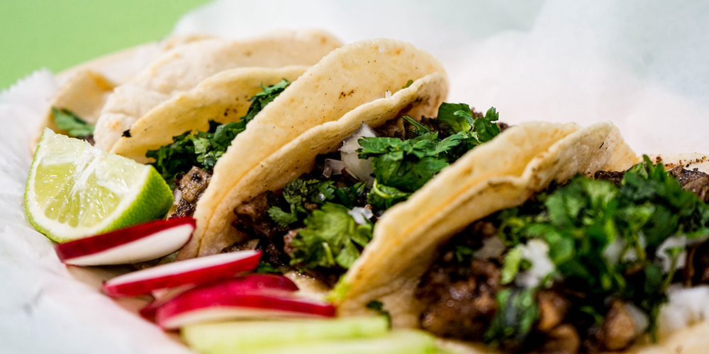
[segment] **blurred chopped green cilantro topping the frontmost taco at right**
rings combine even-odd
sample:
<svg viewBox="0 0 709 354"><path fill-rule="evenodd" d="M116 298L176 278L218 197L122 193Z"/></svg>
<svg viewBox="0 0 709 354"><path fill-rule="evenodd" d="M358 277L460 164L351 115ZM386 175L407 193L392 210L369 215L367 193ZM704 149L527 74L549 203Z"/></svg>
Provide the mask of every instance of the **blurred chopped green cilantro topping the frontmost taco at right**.
<svg viewBox="0 0 709 354"><path fill-rule="evenodd" d="M625 172L620 187L576 176L498 218L503 241L513 246L505 256L503 283L511 282L519 267L514 246L542 238L564 287L585 295L574 299L579 314L602 318L604 299L617 297L649 315L652 335L683 249L665 251L672 262L669 272L659 267L654 250L670 236L709 235L709 207L647 156ZM620 256L605 254L618 244Z"/></svg>

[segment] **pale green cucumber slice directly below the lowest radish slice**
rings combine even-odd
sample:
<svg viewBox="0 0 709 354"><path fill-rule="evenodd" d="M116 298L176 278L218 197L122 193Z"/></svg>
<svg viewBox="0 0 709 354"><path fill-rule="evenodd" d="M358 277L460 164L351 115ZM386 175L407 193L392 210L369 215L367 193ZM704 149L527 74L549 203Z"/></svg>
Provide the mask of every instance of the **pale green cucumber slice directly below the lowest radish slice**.
<svg viewBox="0 0 709 354"><path fill-rule="evenodd" d="M182 327L182 338L202 354L257 353L267 348L286 352L291 346L323 340L382 336L389 322L384 316L298 321L231 321ZM283 352L281 352L283 353Z"/></svg>

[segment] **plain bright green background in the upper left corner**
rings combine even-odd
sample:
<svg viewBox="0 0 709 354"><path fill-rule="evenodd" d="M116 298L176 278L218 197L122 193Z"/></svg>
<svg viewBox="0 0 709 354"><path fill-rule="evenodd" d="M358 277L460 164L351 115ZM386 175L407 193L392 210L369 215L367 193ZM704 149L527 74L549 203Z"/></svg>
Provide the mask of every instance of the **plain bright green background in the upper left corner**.
<svg viewBox="0 0 709 354"><path fill-rule="evenodd" d="M0 91L36 69L52 72L159 40L207 0L0 0Z"/></svg>

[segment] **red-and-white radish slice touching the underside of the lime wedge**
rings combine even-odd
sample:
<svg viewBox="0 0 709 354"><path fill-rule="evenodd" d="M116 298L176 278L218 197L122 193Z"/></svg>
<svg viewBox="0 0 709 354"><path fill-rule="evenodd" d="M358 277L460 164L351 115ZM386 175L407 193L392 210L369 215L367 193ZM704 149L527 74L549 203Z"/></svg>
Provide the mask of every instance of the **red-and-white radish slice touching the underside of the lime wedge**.
<svg viewBox="0 0 709 354"><path fill-rule="evenodd" d="M54 246L60 261L72 265L127 264L167 256L189 241L191 217L157 220Z"/></svg>

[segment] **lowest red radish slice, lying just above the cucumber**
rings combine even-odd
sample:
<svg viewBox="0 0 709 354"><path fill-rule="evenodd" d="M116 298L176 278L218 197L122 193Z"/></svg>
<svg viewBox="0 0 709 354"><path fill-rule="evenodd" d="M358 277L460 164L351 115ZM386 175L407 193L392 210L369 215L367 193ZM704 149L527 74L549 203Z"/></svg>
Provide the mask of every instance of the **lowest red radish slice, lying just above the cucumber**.
<svg viewBox="0 0 709 354"><path fill-rule="evenodd" d="M157 309L155 319L162 329L187 324L230 319L333 317L328 302L296 297L282 290L229 292L218 285L183 292Z"/></svg>

